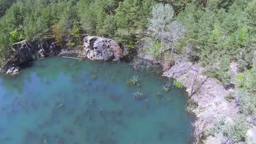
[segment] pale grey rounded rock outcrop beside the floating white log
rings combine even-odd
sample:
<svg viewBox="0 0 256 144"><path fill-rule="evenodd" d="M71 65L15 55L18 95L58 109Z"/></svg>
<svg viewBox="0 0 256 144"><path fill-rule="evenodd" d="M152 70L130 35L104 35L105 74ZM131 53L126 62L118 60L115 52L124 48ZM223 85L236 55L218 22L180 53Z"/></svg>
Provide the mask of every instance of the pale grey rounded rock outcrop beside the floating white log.
<svg viewBox="0 0 256 144"><path fill-rule="evenodd" d="M91 60L119 61L122 59L122 50L112 39L85 36L81 55Z"/></svg>

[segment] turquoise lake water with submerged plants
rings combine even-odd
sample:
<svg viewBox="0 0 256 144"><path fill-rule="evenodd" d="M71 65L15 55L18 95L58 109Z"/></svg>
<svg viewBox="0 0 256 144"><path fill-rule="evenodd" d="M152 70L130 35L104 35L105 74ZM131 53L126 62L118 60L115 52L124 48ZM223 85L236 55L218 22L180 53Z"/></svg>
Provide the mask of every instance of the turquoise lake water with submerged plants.
<svg viewBox="0 0 256 144"><path fill-rule="evenodd" d="M133 76L139 87L126 84ZM164 92L166 83L125 62L34 61L0 77L0 144L189 144L187 99L177 88Z"/></svg>

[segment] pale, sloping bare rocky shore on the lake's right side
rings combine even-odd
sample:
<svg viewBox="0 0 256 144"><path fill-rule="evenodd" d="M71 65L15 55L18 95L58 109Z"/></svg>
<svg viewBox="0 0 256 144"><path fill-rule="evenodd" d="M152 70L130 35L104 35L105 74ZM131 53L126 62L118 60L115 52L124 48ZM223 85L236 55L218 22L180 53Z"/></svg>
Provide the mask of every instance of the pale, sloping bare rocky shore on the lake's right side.
<svg viewBox="0 0 256 144"><path fill-rule="evenodd" d="M235 90L225 89L218 80L205 76L204 72L205 69L199 65L180 59L171 69L164 72L163 76L182 81L186 88L191 99L188 102L187 110L197 117L195 123L192 124L196 144L233 144L223 136L222 131L213 133L214 136L206 136L211 128L216 127L218 120L232 123L234 117L239 113L239 107L235 100L228 102L225 99L229 92ZM252 127L247 135L246 142L253 144L254 140L252 139L256 137L256 128Z"/></svg>

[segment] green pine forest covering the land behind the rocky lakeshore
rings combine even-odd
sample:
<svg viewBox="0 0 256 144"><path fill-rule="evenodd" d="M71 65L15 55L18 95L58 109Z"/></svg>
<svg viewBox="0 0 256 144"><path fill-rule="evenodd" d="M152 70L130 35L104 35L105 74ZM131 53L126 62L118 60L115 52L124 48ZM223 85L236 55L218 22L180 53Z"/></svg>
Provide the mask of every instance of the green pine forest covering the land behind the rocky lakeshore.
<svg viewBox="0 0 256 144"><path fill-rule="evenodd" d="M165 70L180 56L227 88L238 81L238 92L227 97L240 107L236 123L208 135L221 130L245 141L249 123L256 123L255 8L255 0L0 0L0 65L21 40L54 37L80 47L83 34L112 38L123 55L162 61Z"/></svg>

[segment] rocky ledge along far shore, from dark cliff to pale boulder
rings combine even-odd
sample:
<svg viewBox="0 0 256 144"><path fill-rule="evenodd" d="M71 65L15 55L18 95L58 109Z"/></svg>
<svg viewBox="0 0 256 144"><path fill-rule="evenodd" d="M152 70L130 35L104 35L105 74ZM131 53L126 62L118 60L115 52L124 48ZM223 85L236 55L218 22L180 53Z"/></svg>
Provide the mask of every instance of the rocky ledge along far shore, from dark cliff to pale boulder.
<svg viewBox="0 0 256 144"><path fill-rule="evenodd" d="M76 47L62 48L56 45L53 37L44 40L23 40L11 46L11 54L0 69L6 75L16 75L21 67L29 61L42 59L57 54L79 54L91 60L119 61L122 59L120 46L112 39L86 35L83 39L83 49Z"/></svg>

